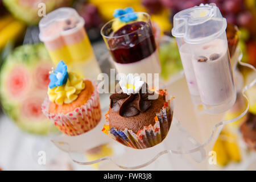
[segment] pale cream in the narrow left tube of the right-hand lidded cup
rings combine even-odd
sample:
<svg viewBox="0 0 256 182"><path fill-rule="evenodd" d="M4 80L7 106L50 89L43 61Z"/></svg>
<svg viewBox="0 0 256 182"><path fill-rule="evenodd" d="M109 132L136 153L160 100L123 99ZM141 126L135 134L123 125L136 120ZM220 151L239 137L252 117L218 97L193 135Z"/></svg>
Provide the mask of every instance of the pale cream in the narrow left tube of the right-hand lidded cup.
<svg viewBox="0 0 256 182"><path fill-rule="evenodd" d="M197 86L196 76L192 65L192 55L189 45L184 43L179 48L180 59L183 65L184 74L187 80L189 93L191 94L192 101L195 104L201 104L200 94Z"/></svg>

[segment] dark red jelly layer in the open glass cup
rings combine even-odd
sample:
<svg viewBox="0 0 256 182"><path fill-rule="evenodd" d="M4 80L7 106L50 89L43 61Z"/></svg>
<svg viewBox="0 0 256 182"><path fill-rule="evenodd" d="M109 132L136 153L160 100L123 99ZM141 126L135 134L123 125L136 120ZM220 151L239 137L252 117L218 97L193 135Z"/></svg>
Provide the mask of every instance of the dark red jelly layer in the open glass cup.
<svg viewBox="0 0 256 182"><path fill-rule="evenodd" d="M108 41L115 62L127 64L140 61L156 50L154 34L150 24L134 22L119 28Z"/></svg>

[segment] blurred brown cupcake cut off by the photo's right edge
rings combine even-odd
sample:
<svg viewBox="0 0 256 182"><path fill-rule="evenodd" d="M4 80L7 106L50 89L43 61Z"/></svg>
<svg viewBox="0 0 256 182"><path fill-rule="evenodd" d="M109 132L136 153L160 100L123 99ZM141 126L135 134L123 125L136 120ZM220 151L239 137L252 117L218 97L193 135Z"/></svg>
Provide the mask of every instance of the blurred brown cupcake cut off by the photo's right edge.
<svg viewBox="0 0 256 182"><path fill-rule="evenodd" d="M256 150L256 115L249 113L240 130L247 146L251 150Z"/></svg>

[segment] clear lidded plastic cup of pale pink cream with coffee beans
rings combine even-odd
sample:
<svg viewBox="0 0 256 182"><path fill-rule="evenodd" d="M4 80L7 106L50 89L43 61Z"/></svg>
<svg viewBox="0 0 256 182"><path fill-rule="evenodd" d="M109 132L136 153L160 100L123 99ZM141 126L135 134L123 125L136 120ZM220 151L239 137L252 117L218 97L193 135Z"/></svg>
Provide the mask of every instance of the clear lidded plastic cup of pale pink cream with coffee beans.
<svg viewBox="0 0 256 182"><path fill-rule="evenodd" d="M226 25L215 4L195 6L174 16L172 35L183 38L189 46L197 89L209 114L222 113L236 101ZM180 52L183 46L179 47Z"/></svg>

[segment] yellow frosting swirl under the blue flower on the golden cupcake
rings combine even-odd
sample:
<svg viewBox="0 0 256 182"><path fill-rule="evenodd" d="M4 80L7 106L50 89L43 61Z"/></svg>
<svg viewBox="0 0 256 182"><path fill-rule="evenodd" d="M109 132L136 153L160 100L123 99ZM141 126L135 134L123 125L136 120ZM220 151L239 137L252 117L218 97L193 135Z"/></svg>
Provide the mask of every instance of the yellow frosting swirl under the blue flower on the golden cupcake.
<svg viewBox="0 0 256 182"><path fill-rule="evenodd" d="M85 84L82 78L76 73L69 72L65 84L52 89L48 88L49 100L57 105L69 104L77 99L84 88Z"/></svg>

